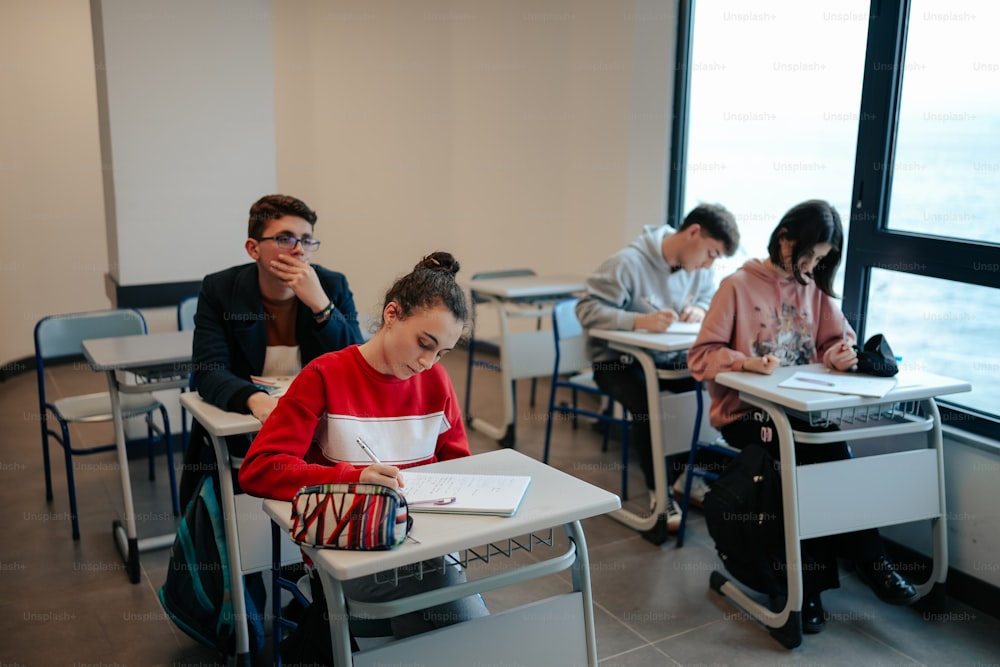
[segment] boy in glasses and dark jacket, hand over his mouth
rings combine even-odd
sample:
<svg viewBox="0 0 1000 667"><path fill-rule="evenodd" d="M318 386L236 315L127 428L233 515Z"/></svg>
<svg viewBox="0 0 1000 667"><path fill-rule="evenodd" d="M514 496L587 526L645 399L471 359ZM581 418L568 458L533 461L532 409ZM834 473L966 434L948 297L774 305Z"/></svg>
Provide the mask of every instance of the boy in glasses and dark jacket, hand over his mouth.
<svg viewBox="0 0 1000 667"><path fill-rule="evenodd" d="M347 278L312 263L316 213L287 195L250 207L253 263L202 281L195 313L194 384L202 398L263 423L278 399L250 376L293 376L325 352L362 342Z"/></svg>

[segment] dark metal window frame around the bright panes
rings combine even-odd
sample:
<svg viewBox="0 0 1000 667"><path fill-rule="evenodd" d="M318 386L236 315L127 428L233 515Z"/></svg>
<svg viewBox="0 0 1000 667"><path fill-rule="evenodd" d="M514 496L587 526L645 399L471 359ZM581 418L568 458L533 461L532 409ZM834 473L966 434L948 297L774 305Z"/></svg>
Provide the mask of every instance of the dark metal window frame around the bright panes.
<svg viewBox="0 0 1000 667"><path fill-rule="evenodd" d="M873 269L1000 289L1000 272L973 268L1000 263L1000 244L892 230L888 225L909 11L910 0L871 2L843 287L844 313L860 340L867 338ZM666 221L674 226L683 218L694 15L695 0L678 2ZM1000 415L949 405L947 399L939 407L943 423L1000 440Z"/></svg>

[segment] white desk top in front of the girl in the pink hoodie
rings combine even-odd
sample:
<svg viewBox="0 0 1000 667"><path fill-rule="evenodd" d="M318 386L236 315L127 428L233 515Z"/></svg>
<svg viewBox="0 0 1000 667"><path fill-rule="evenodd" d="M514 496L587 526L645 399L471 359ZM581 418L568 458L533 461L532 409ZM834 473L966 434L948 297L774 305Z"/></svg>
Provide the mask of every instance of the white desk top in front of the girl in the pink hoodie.
<svg viewBox="0 0 1000 667"><path fill-rule="evenodd" d="M798 371L813 373L827 372L823 364L782 366L772 375L761 375L746 371L719 373L715 377L715 381L725 387L737 389L742 393L757 396L799 412L819 412L840 408L896 403L898 401L917 401L972 390L972 386L963 380L956 380L923 371L908 370L899 372L899 375L896 376L896 387L882 398L864 398L847 394L830 394L778 386Z"/></svg>

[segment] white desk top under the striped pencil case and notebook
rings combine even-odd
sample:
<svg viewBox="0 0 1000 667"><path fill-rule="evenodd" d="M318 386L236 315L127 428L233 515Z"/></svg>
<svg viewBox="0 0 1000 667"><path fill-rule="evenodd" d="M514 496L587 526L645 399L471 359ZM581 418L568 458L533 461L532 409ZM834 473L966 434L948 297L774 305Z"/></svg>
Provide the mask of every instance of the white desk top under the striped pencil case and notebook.
<svg viewBox="0 0 1000 667"><path fill-rule="evenodd" d="M475 514L413 515L409 540L389 551L307 549L317 564L337 579L352 579L416 563L462 549L502 542L565 523L605 514L621 507L613 493L567 475L513 449L501 449L453 459L420 470L455 473L530 475L531 484L517 514L511 517ZM404 479L406 471L403 471ZM265 500L264 511L285 531L291 524L291 503Z"/></svg>

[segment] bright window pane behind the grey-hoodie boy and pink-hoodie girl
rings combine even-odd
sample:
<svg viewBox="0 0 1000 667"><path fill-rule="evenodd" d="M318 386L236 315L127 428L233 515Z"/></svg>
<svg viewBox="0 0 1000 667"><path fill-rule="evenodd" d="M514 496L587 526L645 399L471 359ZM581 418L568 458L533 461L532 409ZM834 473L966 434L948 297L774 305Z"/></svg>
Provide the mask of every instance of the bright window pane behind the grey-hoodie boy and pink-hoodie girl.
<svg viewBox="0 0 1000 667"><path fill-rule="evenodd" d="M766 256L799 202L826 199L847 224L868 0L703 0L693 23L683 210L736 216L742 248L721 277Z"/></svg>

